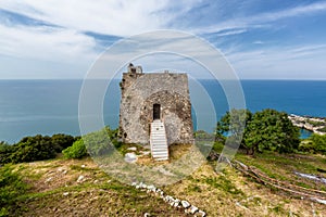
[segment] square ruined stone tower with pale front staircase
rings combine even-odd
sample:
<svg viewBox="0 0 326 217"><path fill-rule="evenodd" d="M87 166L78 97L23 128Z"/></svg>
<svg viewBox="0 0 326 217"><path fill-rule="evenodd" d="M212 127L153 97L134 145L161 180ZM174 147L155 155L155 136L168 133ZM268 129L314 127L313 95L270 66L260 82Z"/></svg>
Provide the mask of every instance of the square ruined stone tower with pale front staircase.
<svg viewBox="0 0 326 217"><path fill-rule="evenodd" d="M129 64L121 81L120 137L150 144L154 159L168 159L168 145L193 143L187 74L142 73Z"/></svg>

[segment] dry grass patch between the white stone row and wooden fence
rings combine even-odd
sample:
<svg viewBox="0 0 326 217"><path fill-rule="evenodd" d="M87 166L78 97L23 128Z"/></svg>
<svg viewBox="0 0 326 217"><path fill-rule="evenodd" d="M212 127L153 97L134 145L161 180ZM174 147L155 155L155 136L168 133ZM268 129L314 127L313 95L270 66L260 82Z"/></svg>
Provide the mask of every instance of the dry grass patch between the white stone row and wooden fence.
<svg viewBox="0 0 326 217"><path fill-rule="evenodd" d="M166 187L166 191L185 197L210 216L313 216L313 212L326 216L325 205L278 194L231 168L215 174L208 164Z"/></svg>

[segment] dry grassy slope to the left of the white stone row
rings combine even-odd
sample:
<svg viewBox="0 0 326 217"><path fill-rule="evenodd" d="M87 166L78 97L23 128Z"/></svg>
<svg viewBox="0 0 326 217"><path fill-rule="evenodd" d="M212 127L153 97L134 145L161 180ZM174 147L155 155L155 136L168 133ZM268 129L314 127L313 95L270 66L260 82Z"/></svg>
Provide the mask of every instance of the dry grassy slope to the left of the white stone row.
<svg viewBox="0 0 326 217"><path fill-rule="evenodd" d="M32 189L17 199L12 216L183 216L161 199L115 181L90 159L16 165ZM83 181L77 182L79 176Z"/></svg>

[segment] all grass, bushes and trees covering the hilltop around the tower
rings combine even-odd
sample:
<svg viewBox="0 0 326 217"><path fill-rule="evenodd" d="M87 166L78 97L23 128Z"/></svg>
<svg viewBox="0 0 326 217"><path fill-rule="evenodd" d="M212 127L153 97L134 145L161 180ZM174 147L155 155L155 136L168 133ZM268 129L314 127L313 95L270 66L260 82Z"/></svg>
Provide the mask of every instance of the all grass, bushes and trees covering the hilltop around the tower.
<svg viewBox="0 0 326 217"><path fill-rule="evenodd" d="M215 135L196 132L202 143L215 139L210 161L180 181L160 188L195 204L208 216L326 216L326 205L309 194L317 193L312 195L323 200L326 195L326 136L314 135L300 141L287 114L273 110L231 113L217 123ZM241 138L243 120L248 128ZM230 141L240 142L240 150L236 161L226 161L229 165L216 171L225 132L230 135ZM108 138L112 146L108 145ZM91 146L86 149L85 143ZM198 144L199 150L202 143ZM147 151L141 145L121 143L117 130L109 127L83 140L55 135L26 137L13 145L1 142L0 216L187 216L184 209L171 206L154 193L115 180L88 156L108 156L113 148L122 154ZM172 145L171 161L180 158L190 148ZM237 168L237 161L255 174L249 176ZM135 164L167 163L154 163L149 155L139 155ZM261 180L258 174L276 186ZM137 176L139 180L141 174ZM289 191L277 184L289 186Z"/></svg>

